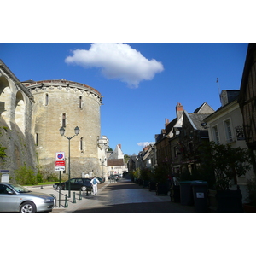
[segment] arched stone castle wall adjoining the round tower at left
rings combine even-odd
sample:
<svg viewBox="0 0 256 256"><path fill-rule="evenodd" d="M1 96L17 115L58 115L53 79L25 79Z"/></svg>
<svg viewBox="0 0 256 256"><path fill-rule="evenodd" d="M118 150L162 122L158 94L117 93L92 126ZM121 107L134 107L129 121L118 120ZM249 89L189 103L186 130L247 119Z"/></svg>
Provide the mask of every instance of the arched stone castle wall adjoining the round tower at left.
<svg viewBox="0 0 256 256"><path fill-rule="evenodd" d="M32 137L32 95L0 60L0 146L7 148L0 169L12 172L20 166L37 170Z"/></svg>

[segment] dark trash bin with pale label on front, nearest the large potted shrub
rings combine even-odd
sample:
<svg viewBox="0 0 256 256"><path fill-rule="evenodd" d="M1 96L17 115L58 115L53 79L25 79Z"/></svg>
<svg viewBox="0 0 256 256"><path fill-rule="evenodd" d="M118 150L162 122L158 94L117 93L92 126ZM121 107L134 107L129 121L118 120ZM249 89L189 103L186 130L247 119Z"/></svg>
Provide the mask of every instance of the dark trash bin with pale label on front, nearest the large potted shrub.
<svg viewBox="0 0 256 256"><path fill-rule="evenodd" d="M208 212L207 186L208 184L205 181L194 181L191 183L196 213Z"/></svg>

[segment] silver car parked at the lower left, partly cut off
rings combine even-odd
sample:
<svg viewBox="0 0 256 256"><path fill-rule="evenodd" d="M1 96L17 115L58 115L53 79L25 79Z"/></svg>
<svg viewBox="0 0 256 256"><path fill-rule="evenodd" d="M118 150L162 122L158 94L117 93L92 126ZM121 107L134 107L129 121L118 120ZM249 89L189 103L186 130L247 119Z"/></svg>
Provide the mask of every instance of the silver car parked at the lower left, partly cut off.
<svg viewBox="0 0 256 256"><path fill-rule="evenodd" d="M15 183L0 183L0 212L51 212L54 198Z"/></svg>

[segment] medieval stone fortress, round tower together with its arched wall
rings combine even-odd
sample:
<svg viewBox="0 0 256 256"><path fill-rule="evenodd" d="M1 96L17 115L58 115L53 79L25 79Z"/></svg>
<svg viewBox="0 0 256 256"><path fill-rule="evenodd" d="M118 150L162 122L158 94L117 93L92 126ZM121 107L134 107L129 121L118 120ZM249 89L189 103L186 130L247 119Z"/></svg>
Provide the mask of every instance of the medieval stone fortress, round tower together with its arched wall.
<svg viewBox="0 0 256 256"><path fill-rule="evenodd" d="M88 85L65 79L21 83L1 61L0 146L7 149L0 168L12 172L39 164L44 172L55 172L57 152L65 152L68 166L70 143L72 177L100 170L101 105L102 95ZM79 135L73 137L76 126Z"/></svg>

